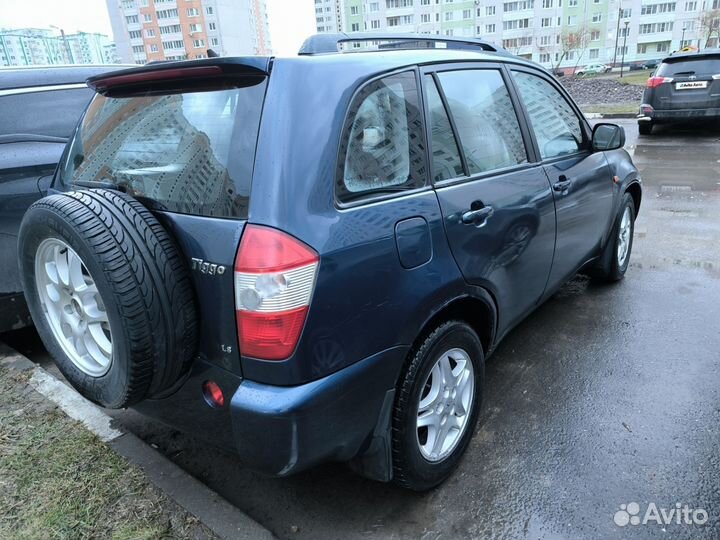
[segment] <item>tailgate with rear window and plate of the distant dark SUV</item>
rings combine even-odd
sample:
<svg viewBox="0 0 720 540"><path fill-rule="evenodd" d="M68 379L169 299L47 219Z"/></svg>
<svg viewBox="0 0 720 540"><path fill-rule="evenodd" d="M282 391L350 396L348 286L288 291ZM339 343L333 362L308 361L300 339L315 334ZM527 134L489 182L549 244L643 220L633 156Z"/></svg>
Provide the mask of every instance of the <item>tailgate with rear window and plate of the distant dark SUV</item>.
<svg viewBox="0 0 720 540"><path fill-rule="evenodd" d="M666 59L656 77L672 79L655 87L653 107L692 110L720 107L720 54Z"/></svg>

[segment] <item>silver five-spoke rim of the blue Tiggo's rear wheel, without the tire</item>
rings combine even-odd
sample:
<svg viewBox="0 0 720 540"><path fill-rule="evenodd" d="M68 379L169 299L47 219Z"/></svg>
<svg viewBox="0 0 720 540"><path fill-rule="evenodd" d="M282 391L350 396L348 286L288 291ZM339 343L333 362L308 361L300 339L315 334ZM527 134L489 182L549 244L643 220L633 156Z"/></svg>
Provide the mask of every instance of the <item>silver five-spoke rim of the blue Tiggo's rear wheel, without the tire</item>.
<svg viewBox="0 0 720 540"><path fill-rule="evenodd" d="M460 442L475 398L475 375L463 349L444 352L422 386L417 412L417 442L428 461L442 461Z"/></svg>

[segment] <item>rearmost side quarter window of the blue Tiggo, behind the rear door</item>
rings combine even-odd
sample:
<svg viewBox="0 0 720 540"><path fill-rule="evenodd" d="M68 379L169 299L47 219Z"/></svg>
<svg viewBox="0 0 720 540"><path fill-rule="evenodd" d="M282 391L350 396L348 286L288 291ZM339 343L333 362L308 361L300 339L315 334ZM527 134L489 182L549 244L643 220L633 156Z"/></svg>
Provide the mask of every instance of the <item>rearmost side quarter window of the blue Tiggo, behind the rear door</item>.
<svg viewBox="0 0 720 540"><path fill-rule="evenodd" d="M414 72L365 86L350 106L341 141L341 201L425 185L422 112Z"/></svg>

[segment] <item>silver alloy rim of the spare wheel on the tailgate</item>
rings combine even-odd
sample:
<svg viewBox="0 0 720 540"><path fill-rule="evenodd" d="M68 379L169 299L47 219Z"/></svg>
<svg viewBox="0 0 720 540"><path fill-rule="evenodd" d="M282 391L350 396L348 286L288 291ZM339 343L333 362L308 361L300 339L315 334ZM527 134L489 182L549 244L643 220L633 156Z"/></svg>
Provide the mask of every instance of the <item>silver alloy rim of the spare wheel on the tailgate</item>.
<svg viewBox="0 0 720 540"><path fill-rule="evenodd" d="M91 377L112 364L112 336L105 304L80 256L47 238L35 253L35 282L45 320L73 364Z"/></svg>

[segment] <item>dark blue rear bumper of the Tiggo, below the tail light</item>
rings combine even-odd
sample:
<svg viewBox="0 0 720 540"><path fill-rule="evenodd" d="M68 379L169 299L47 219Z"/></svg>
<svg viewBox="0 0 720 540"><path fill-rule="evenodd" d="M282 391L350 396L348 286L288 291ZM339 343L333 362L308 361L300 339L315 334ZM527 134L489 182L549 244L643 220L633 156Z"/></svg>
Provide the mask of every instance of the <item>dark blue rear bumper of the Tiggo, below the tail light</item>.
<svg viewBox="0 0 720 540"><path fill-rule="evenodd" d="M237 451L244 465L268 475L287 476L323 462L355 460L360 472L389 479L389 419L407 351L388 349L291 387L242 380L198 361L172 396L147 400L136 408ZM207 380L223 389L223 408L205 402L201 387Z"/></svg>

